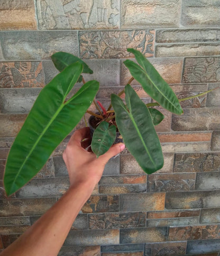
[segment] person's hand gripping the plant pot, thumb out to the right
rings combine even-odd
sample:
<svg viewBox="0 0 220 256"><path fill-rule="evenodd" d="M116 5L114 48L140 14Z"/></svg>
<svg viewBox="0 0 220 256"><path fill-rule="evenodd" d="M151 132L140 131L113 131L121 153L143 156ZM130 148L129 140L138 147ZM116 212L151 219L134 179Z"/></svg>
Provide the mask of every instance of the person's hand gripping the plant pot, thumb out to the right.
<svg viewBox="0 0 220 256"><path fill-rule="evenodd" d="M86 148L91 144L89 127L77 130L70 138L63 152L63 160L69 173L70 186L80 183L95 185L102 177L107 161L120 153L125 145L114 144L104 155L98 158Z"/></svg>

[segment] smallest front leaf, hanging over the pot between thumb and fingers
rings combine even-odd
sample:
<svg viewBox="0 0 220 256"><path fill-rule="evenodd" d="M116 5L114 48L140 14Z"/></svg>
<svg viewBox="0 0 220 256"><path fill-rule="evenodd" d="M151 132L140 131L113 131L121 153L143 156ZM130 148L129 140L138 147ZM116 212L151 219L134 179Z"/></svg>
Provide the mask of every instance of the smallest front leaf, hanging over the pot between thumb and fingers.
<svg viewBox="0 0 220 256"><path fill-rule="evenodd" d="M93 140L91 141L91 150L97 157L103 155L112 146L116 138L116 126L111 125L105 121L100 123L93 133Z"/></svg>

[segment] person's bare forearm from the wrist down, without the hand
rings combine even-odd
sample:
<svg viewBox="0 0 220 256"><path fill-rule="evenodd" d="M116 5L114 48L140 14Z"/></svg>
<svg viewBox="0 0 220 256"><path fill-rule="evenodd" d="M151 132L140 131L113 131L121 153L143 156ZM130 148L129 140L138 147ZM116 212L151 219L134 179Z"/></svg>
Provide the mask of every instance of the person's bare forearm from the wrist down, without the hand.
<svg viewBox="0 0 220 256"><path fill-rule="evenodd" d="M62 198L33 224L3 255L57 255L78 212L89 198L94 185L71 186Z"/></svg>

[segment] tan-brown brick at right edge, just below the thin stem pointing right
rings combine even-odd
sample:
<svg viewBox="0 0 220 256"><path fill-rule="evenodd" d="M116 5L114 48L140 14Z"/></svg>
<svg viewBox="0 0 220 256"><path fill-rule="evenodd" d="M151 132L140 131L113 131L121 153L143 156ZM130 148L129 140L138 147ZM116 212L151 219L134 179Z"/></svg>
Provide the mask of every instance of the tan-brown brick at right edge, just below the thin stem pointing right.
<svg viewBox="0 0 220 256"><path fill-rule="evenodd" d="M173 131L220 130L219 108L185 108L181 116L172 115Z"/></svg>

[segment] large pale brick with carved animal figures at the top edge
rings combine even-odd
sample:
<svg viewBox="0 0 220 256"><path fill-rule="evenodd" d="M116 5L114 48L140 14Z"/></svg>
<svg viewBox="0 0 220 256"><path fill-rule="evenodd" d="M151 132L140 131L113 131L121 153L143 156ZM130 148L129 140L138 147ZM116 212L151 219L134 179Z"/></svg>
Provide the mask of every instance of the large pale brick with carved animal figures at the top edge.
<svg viewBox="0 0 220 256"><path fill-rule="evenodd" d="M39 29L119 28L119 1L37 0Z"/></svg>

